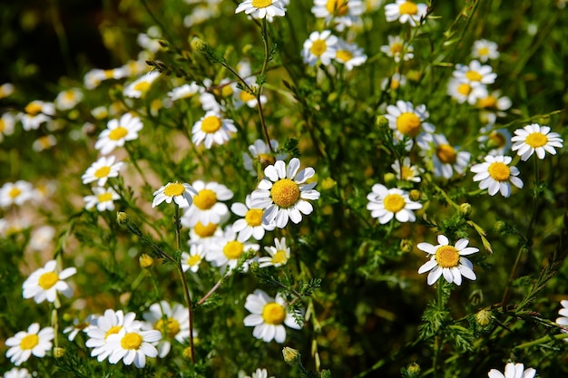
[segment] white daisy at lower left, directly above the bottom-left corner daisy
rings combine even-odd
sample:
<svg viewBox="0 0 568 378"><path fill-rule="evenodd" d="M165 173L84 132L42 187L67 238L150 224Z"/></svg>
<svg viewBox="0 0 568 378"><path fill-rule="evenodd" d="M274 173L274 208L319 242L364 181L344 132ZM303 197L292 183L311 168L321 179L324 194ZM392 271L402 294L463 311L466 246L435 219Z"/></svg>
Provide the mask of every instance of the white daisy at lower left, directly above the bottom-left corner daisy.
<svg viewBox="0 0 568 378"><path fill-rule="evenodd" d="M77 273L75 267L67 267L58 272L57 263L55 260L50 260L24 281L23 296L25 299L34 298L35 303L42 303L44 300L53 303L57 299L57 292L69 298L73 296L73 287L69 286L64 279L75 273Z"/></svg>

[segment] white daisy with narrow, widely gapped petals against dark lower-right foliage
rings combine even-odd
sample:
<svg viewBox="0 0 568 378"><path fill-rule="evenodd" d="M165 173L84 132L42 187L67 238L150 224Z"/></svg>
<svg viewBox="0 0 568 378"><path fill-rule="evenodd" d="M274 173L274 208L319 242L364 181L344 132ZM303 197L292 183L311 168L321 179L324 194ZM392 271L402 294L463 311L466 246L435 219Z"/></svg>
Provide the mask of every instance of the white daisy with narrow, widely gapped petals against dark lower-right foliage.
<svg viewBox="0 0 568 378"><path fill-rule="evenodd" d="M467 247L469 240L462 238L457 240L455 246L449 245L449 240L444 235L438 235L438 245L430 243L418 243L416 247L430 255L430 260L418 269L419 274L428 273L428 285L433 285L440 276L444 276L447 282L462 285L462 276L475 280L474 265L466 257L479 252L478 248Z"/></svg>

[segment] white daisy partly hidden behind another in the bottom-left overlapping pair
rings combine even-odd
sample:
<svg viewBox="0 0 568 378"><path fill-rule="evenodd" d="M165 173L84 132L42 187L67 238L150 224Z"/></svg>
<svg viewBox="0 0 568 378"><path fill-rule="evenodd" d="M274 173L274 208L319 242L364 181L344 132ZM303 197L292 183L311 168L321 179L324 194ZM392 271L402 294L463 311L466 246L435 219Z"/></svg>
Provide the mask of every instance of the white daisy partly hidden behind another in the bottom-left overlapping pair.
<svg viewBox="0 0 568 378"><path fill-rule="evenodd" d="M97 317L93 325L88 328L89 339L85 342L85 346L93 348L91 356L97 357L97 361L101 363L113 353L113 349L108 347L110 335L118 334L122 330L134 332L141 328L142 322L136 320L136 314L124 315L122 310L114 312L114 310L108 309L104 311L104 315Z"/></svg>

